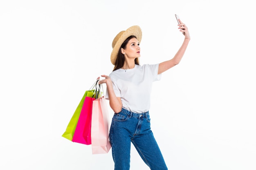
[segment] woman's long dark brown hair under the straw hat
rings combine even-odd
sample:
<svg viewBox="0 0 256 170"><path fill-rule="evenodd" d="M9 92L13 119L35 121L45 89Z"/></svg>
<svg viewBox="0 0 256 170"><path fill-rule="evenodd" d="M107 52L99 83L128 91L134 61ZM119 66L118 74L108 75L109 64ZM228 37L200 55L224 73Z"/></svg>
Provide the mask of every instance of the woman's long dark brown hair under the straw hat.
<svg viewBox="0 0 256 170"><path fill-rule="evenodd" d="M125 57L124 57L124 54L121 53L121 48L126 49L127 43L132 38L136 38L137 39L136 36L131 35L130 37L126 38L126 40L121 45L121 47L120 47L120 49L118 51L118 54L117 54L117 60L115 62L115 67L114 67L113 71L115 71L115 70L117 70L119 68L122 68L124 66ZM135 58L135 64L139 65L139 58Z"/></svg>

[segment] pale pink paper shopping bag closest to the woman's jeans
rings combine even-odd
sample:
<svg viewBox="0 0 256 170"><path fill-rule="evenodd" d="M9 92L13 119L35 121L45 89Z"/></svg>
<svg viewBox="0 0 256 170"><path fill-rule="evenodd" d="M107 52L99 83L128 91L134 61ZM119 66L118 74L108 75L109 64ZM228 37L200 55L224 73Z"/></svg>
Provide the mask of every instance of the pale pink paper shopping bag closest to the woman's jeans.
<svg viewBox="0 0 256 170"><path fill-rule="evenodd" d="M102 87L102 85L101 85ZM108 105L104 96L92 102L91 141L92 154L108 153L111 148L109 141Z"/></svg>

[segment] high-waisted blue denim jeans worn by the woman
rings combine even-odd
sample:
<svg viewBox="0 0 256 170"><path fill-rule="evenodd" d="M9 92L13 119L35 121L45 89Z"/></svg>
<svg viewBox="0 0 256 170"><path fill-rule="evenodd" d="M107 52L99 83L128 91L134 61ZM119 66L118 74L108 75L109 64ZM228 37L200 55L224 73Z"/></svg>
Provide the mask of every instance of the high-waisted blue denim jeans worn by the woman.
<svg viewBox="0 0 256 170"><path fill-rule="evenodd" d="M150 170L167 170L162 153L150 130L149 113L133 113L122 108L110 127L110 143L115 170L130 169L131 142Z"/></svg>

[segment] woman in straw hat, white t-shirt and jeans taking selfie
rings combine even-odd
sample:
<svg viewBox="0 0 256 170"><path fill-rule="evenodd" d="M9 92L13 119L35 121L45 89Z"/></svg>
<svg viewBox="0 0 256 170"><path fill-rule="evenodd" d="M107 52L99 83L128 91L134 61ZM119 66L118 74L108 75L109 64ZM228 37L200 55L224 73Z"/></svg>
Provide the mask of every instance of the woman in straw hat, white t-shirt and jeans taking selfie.
<svg viewBox="0 0 256 170"><path fill-rule="evenodd" d="M179 20L180 21L180 20ZM115 65L109 76L99 81L106 83L106 99L115 112L110 127L110 143L115 170L130 169L130 144L132 143L151 170L167 170L164 158L150 130L150 91L153 81L180 62L190 36L188 28L178 24L185 39L176 55L160 64L139 65L141 29L132 26L121 31L112 42L110 60Z"/></svg>

